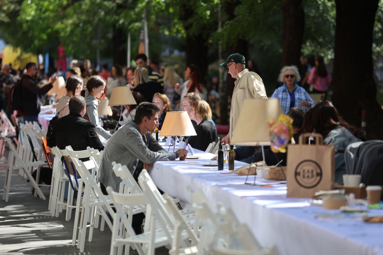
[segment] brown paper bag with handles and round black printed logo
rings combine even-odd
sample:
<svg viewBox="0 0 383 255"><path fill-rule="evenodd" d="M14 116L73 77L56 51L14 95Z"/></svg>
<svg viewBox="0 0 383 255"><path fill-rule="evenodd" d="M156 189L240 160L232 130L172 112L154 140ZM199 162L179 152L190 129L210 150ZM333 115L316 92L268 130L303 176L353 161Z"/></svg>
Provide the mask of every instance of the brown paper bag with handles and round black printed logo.
<svg viewBox="0 0 383 255"><path fill-rule="evenodd" d="M315 144L305 144L315 137ZM304 133L287 149L287 197L311 198L319 190L331 190L334 182L335 149L323 145L320 134Z"/></svg>

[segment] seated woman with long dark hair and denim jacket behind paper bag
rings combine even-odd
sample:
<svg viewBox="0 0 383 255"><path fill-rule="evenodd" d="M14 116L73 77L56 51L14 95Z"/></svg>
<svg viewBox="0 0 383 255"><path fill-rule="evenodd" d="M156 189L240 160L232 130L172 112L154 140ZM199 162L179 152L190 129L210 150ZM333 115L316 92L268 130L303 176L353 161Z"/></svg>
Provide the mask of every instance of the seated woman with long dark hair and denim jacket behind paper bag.
<svg viewBox="0 0 383 255"><path fill-rule="evenodd" d="M346 173L344 150L349 144L364 139L362 131L348 124L329 101L316 103L307 111L303 129L321 134L324 144L335 146L335 181L343 184L342 175Z"/></svg>

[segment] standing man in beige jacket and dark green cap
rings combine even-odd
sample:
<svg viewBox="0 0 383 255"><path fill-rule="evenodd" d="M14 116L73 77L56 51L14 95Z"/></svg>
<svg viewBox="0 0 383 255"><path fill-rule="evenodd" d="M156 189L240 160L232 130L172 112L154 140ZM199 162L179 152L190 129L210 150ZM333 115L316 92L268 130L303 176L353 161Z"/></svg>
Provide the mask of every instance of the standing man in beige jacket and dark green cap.
<svg viewBox="0 0 383 255"><path fill-rule="evenodd" d="M236 79L231 98L229 134L222 138L222 142L227 144L237 124L244 100L267 99L267 96L261 77L245 68L245 57L241 54L231 54L221 66L226 67L231 77Z"/></svg>

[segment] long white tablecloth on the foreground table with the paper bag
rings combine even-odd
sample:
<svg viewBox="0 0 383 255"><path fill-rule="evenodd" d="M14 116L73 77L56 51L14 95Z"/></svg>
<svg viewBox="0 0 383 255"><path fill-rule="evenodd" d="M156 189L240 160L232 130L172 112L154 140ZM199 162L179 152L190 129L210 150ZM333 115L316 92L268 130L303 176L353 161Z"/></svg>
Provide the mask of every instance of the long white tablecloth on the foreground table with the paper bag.
<svg viewBox="0 0 383 255"><path fill-rule="evenodd" d="M187 185L194 191L201 188L213 206L222 202L232 208L264 247L276 245L279 254L383 254L383 224L362 222L361 219L314 218L318 214L338 214L310 206L306 199L286 198L286 185L267 185L275 181L257 179L264 185L244 185L246 176L229 174L217 167L203 167L213 162L213 154L198 153L197 160L156 162L150 172L157 187L188 201ZM235 162L235 167L244 165ZM249 177L248 182L254 180ZM383 210L371 210L381 215Z"/></svg>

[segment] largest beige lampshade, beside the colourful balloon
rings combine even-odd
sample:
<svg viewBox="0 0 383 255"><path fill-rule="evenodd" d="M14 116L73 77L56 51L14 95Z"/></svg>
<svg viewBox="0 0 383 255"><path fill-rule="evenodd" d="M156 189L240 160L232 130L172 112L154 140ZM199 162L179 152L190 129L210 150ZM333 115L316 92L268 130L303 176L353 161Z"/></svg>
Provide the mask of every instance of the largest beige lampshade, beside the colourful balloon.
<svg viewBox="0 0 383 255"><path fill-rule="evenodd" d="M281 114L283 111L278 98L245 100L230 144L270 145L266 120L277 120Z"/></svg>

